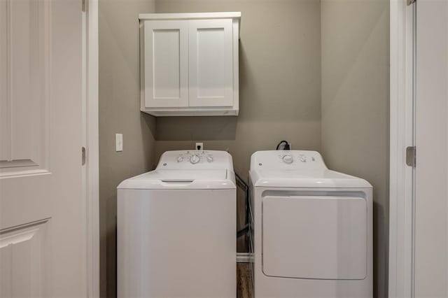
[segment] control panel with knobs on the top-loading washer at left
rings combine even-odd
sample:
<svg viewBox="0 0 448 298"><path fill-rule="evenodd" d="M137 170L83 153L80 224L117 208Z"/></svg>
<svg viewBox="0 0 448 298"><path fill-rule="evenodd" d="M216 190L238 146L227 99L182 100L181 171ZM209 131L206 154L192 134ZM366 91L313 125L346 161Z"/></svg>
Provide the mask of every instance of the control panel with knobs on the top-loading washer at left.
<svg viewBox="0 0 448 298"><path fill-rule="evenodd" d="M228 169L233 171L232 156L218 150L175 150L160 157L157 169Z"/></svg>

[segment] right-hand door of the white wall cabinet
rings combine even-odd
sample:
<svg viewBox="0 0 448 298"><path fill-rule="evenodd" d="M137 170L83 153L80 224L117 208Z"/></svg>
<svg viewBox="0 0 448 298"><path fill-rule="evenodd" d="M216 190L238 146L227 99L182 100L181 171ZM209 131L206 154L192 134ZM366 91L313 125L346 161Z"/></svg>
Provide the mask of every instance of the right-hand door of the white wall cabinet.
<svg viewBox="0 0 448 298"><path fill-rule="evenodd" d="M232 106L232 20L191 20L190 106Z"/></svg>

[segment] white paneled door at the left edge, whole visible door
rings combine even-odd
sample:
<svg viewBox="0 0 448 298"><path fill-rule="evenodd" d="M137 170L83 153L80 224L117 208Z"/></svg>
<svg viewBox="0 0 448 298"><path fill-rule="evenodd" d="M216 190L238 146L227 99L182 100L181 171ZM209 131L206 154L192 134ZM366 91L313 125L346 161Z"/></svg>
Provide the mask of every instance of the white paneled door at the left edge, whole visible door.
<svg viewBox="0 0 448 298"><path fill-rule="evenodd" d="M81 0L0 0L0 297L86 297Z"/></svg>

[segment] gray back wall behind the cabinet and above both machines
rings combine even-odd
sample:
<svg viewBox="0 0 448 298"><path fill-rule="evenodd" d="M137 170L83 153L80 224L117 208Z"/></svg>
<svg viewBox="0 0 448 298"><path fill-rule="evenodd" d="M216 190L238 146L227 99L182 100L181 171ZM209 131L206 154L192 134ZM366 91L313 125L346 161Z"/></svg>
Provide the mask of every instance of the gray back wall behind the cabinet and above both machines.
<svg viewBox="0 0 448 298"><path fill-rule="evenodd" d="M229 149L247 177L251 154L321 148L320 4L316 0L156 0L157 13L241 11L238 117L157 118L165 150Z"/></svg>

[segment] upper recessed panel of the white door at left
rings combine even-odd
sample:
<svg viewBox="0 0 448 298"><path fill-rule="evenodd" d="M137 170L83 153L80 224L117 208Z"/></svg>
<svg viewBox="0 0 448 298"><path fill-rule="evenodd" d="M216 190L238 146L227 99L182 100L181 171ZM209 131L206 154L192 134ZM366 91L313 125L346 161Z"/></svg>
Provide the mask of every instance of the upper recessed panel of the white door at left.
<svg viewBox="0 0 448 298"><path fill-rule="evenodd" d="M50 5L0 1L0 177L47 171Z"/></svg>

